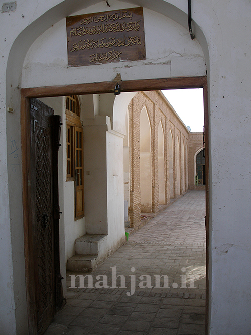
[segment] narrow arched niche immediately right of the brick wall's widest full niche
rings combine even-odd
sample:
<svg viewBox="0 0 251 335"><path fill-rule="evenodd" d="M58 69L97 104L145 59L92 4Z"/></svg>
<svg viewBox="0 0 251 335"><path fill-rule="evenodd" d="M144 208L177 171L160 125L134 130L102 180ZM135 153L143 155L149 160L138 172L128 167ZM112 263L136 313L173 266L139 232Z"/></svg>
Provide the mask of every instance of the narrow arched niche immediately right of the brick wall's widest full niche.
<svg viewBox="0 0 251 335"><path fill-rule="evenodd" d="M161 121L158 125L158 167L159 167L159 204L166 204L164 131Z"/></svg>

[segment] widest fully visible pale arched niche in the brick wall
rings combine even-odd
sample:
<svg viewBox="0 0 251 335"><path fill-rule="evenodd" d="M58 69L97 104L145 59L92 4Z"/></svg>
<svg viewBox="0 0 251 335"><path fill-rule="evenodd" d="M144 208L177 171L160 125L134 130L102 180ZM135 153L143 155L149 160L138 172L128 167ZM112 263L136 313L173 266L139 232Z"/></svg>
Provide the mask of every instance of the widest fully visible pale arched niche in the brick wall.
<svg viewBox="0 0 251 335"><path fill-rule="evenodd" d="M140 114L140 189L143 212L152 211L151 127L146 107Z"/></svg>

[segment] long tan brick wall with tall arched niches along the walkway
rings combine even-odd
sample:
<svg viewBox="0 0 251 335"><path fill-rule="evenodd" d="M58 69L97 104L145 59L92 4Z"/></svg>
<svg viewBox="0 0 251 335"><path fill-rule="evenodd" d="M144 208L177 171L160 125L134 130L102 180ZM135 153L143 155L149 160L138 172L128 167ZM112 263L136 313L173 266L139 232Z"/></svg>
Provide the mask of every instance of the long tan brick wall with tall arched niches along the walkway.
<svg viewBox="0 0 251 335"><path fill-rule="evenodd" d="M202 147L202 133L190 133L176 114L173 107L160 91L138 92L131 100L129 111L129 166L130 166L130 203L129 220L131 227L141 225L141 189L140 189L140 114L146 109L151 129L151 178L152 204L149 211L159 209L159 173L158 173L158 126L162 123L164 132L165 199L170 203L169 173L169 131L173 138L173 180L174 198L188 190L194 180L194 155ZM179 159L177 146L179 142ZM184 150L183 150L184 149ZM182 157L183 153L183 157ZM180 162L177 166L177 161ZM182 163L183 161L183 163ZM179 171L178 171L179 170ZM180 183L177 176L180 175ZM194 185L194 183L193 183ZM144 208L144 206L143 206Z"/></svg>

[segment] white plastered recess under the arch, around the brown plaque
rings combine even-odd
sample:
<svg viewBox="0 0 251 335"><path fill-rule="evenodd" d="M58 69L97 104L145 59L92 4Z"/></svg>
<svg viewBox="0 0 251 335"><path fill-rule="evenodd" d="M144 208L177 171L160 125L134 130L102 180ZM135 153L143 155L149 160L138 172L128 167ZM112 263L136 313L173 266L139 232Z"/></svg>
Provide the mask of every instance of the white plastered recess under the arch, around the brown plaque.
<svg viewBox="0 0 251 335"><path fill-rule="evenodd" d="M132 4L114 1L112 9L130 7ZM102 10L107 10L103 2L74 14ZM60 85L89 82L89 78L92 82L99 82L101 77L110 81L116 77L117 73L121 74L122 80L144 78L144 71L140 66L147 68L147 78L189 76L192 73L196 76L205 74L205 59L198 42L192 43L187 38L186 29L174 21L148 9L144 9L147 59L137 62L119 62L115 65L104 64L98 66L98 71L93 66L67 68L65 25L65 19L62 19L33 43L24 61L22 87L36 87L39 84L38 78L34 77L35 73L40 73L41 85L54 85L59 71Z"/></svg>

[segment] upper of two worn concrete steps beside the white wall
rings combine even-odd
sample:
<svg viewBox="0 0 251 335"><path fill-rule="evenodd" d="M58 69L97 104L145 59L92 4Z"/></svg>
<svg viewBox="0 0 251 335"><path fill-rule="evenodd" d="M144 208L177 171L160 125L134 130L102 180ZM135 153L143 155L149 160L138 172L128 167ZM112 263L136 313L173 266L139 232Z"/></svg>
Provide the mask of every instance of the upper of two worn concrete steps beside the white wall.
<svg viewBox="0 0 251 335"><path fill-rule="evenodd" d="M75 252L78 255L98 255L107 235L85 234L75 240Z"/></svg>

